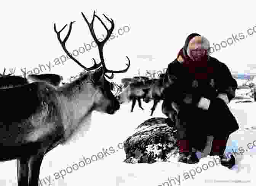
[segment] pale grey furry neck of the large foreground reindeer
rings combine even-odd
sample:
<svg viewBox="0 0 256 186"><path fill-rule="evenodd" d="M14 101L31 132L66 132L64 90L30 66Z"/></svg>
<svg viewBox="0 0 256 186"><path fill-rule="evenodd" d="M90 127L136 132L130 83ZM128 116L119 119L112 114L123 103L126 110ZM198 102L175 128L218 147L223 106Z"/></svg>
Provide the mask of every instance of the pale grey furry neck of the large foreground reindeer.
<svg viewBox="0 0 256 186"><path fill-rule="evenodd" d="M72 83L59 87L58 91L65 107L62 114L67 115L67 122L64 122L64 141L69 141L83 127L90 126L90 122L85 121L90 120L96 89L90 76L83 75Z"/></svg>

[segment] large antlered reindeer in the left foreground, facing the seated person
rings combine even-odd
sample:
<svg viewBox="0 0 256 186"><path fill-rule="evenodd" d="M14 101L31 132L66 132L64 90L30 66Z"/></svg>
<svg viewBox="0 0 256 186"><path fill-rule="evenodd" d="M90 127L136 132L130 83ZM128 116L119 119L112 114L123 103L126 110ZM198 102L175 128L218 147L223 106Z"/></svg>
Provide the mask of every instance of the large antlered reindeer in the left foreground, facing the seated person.
<svg viewBox="0 0 256 186"><path fill-rule="evenodd" d="M18 186L38 185L40 167L45 154L59 144L65 144L81 128L83 121L91 117L92 111L114 114L120 108L120 104L109 89L109 81L104 76L112 79L114 73L126 72L130 67L130 59L126 56L129 62L124 70L108 70L104 62L103 46L114 30L114 21L103 14L111 23L111 28L107 29L95 15L95 11L91 23L83 13L82 16L98 45L100 63L97 64L93 59L94 65L86 68L67 51L66 41L74 22L70 22L64 40L61 40L60 33L67 25L57 31L54 24L54 31L62 49L70 59L88 72L62 87L37 81L0 90L0 99L5 107L0 117L0 161L17 159ZM93 29L95 17L107 30L107 36L101 42L97 40ZM106 73L112 75L107 76ZM22 98L17 95L22 95ZM15 113L14 117L10 117L10 113Z"/></svg>

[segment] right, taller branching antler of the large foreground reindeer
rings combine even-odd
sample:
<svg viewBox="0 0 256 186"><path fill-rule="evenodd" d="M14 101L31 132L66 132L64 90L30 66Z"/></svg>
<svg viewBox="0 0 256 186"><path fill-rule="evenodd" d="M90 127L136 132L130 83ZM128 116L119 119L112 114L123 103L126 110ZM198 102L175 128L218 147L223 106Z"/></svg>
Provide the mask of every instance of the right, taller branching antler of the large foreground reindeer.
<svg viewBox="0 0 256 186"><path fill-rule="evenodd" d="M93 11L93 19L92 19L91 23L88 22L88 20L86 19L85 15L83 13L82 13L82 16L85 19L85 21L86 21L86 23L87 23L87 25L88 25L88 27L90 29L91 35L92 35L95 43L98 45L99 57L100 57L100 60L101 60L101 64L102 64L102 68L103 68L103 73L112 73L111 76L107 76L106 74L104 74L104 75L107 78L109 78L109 79L113 79L114 78L114 74L113 73L124 73L124 72L127 72L128 68L130 67L130 59L127 56L126 56L126 58L128 59L128 64L126 64L127 67L124 70L108 70L106 68L106 65L105 65L105 62L104 62L103 46L106 43L106 41L109 39L110 35L112 34L112 32L114 30L115 24L114 24L113 19L110 20L109 18L107 18L107 16L105 16L103 14L103 16L111 23L111 28L107 29L106 25L102 22L102 20L97 15L95 15L95 11ZM107 36L106 36L106 38L103 41L99 41L97 39L96 35L95 35L95 32L94 32L93 22L94 22L95 17L98 18L98 20L101 22L101 24L104 26L104 28L107 31Z"/></svg>

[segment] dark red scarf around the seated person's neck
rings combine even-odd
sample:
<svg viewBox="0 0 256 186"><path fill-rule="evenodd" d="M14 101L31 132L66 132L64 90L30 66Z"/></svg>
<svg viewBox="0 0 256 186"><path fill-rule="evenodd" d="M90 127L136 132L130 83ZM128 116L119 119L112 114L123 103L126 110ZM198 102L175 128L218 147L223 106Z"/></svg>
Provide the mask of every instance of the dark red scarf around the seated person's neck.
<svg viewBox="0 0 256 186"><path fill-rule="evenodd" d="M183 48L179 50L178 57L183 58L181 63L189 71L189 74L192 75L195 79L208 79L208 76L213 72L213 68L209 65L208 55L200 61L193 61L189 56L184 55Z"/></svg>

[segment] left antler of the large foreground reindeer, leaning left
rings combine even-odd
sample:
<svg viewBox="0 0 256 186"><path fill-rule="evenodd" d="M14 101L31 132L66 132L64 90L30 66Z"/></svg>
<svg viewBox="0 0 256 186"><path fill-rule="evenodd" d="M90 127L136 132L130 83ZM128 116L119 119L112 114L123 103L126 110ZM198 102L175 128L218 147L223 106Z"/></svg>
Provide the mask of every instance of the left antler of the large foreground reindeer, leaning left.
<svg viewBox="0 0 256 186"><path fill-rule="evenodd" d="M86 67L83 66L77 59L75 59L75 58L69 53L69 51L67 51L67 48L66 48L66 41L67 41L67 39L69 38L69 35L70 35L70 33L71 33L71 29L72 29L72 24L73 24L74 22L75 22L75 21L71 21L71 22L70 22L69 31L67 32L67 35L66 35L66 37L64 38L63 41L61 40L60 34L61 34L62 30L65 29L65 27L67 26L67 24L58 32L58 31L56 30L56 24L54 23L54 31L55 31L56 34L57 34L57 37L58 37L59 43L61 43L62 49L66 52L67 56L69 56L70 59L74 60L78 65L80 65L80 67L84 68L85 70L94 70L94 69L100 67L100 66L101 66L101 63L96 64L96 61L95 61L95 59L93 58L94 65L93 65L92 67L90 67L90 68L86 68Z"/></svg>

